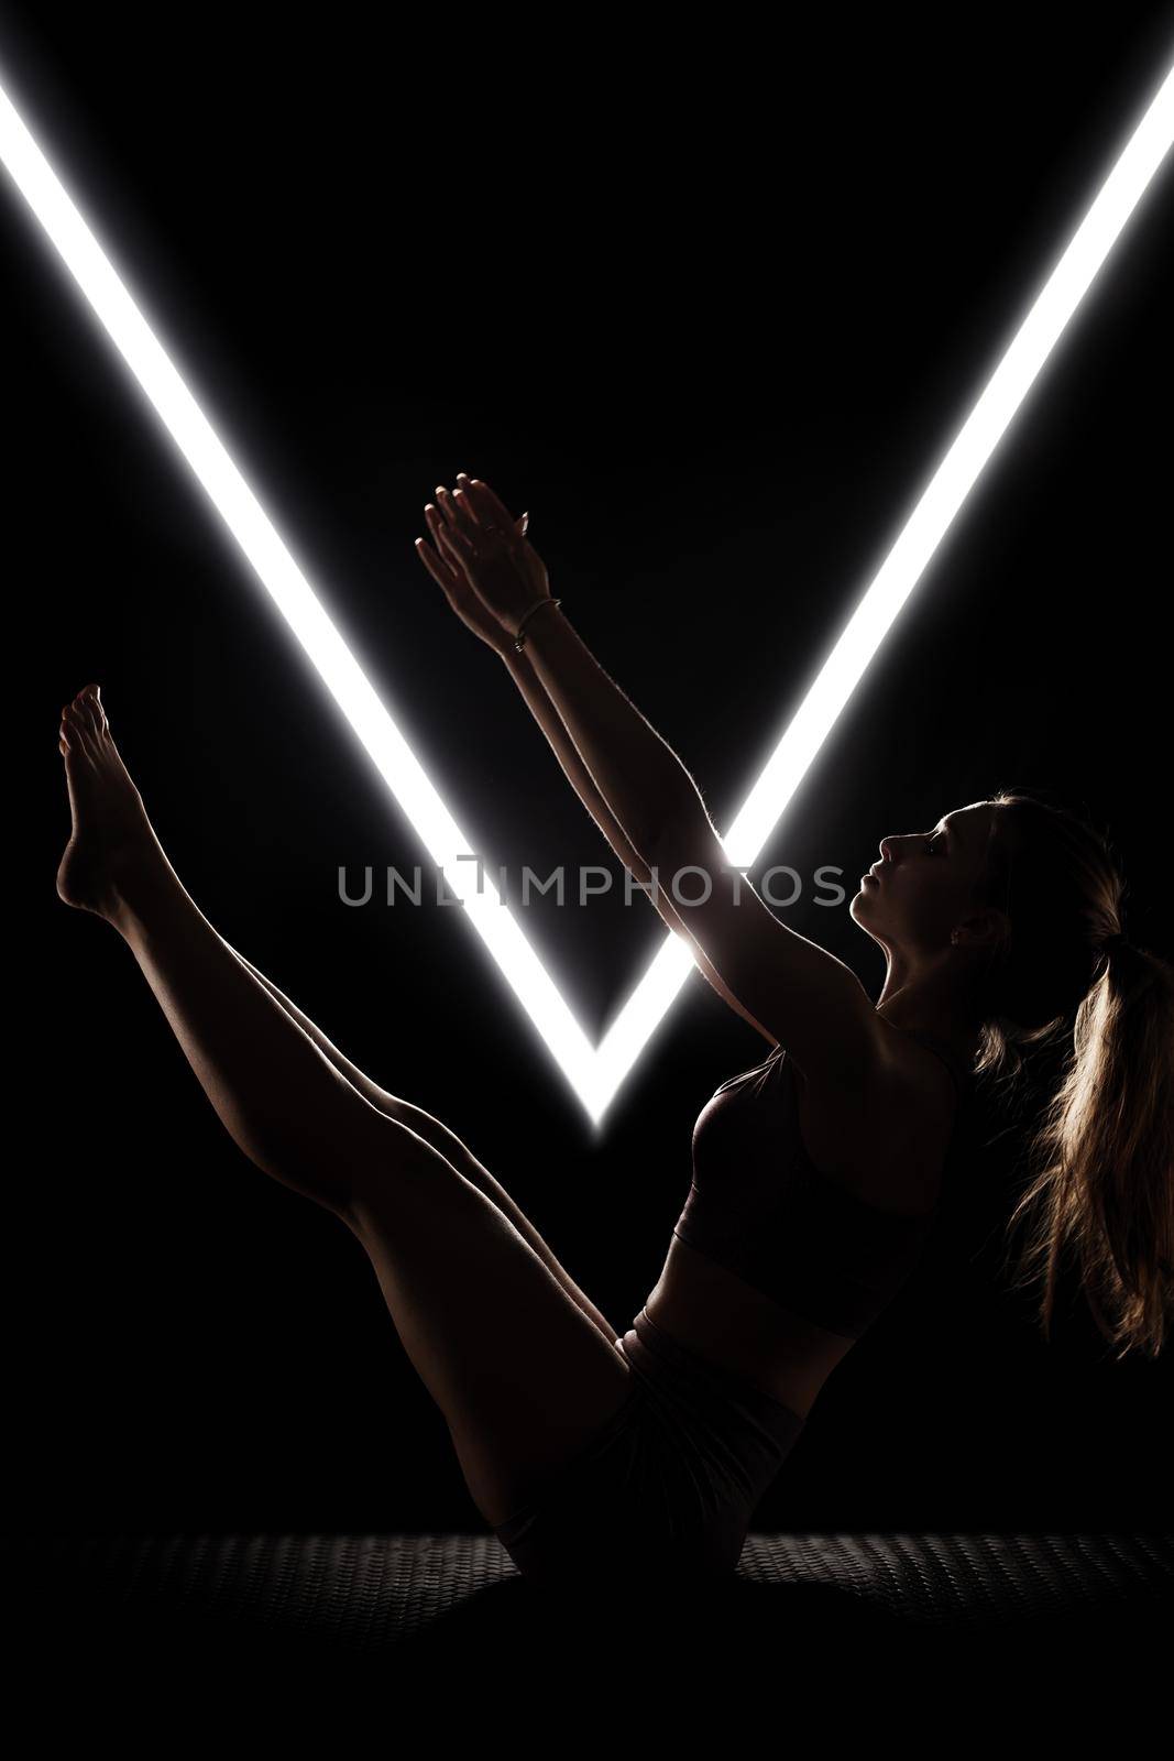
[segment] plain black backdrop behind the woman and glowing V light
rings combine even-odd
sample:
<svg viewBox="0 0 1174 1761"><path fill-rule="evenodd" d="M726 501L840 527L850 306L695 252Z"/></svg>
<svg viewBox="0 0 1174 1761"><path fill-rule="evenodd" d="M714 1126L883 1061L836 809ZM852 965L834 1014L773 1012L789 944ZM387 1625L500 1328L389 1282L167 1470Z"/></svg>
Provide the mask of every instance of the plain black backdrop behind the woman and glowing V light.
<svg viewBox="0 0 1174 1761"><path fill-rule="evenodd" d="M664 930L417 562L422 504L468 470L530 509L725 828L1174 21L521 18L5 7L0 74L475 847L614 873L525 912L598 1037ZM470 1143L618 1330L695 1115L762 1043L695 974L595 1132L459 909L340 903L340 865L426 852L4 183L9 1516L477 1529L359 1245L238 1153L120 939L58 903L60 704L102 683L202 910ZM884 833L1042 785L1111 829L1132 932L1170 953L1169 224L1167 160L755 877L854 884ZM877 995L878 949L813 896L787 921ZM1000 1277L1023 1141L977 1160L757 1527L1169 1522L1169 1367L1114 1363L1079 1303L1044 1345Z"/></svg>

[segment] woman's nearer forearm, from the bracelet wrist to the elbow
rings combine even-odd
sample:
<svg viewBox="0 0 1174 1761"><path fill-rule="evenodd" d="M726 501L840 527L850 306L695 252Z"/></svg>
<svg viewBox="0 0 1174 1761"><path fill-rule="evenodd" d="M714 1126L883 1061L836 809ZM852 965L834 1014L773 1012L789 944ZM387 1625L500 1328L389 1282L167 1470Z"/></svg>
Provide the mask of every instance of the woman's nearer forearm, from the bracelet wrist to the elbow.
<svg viewBox="0 0 1174 1761"><path fill-rule="evenodd" d="M544 608L530 620L519 659L525 657L593 791L641 858L665 821L678 819L690 799L704 812L697 785L676 752L604 673L560 608Z"/></svg>

